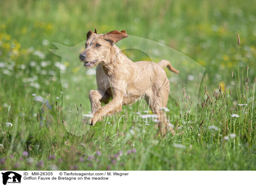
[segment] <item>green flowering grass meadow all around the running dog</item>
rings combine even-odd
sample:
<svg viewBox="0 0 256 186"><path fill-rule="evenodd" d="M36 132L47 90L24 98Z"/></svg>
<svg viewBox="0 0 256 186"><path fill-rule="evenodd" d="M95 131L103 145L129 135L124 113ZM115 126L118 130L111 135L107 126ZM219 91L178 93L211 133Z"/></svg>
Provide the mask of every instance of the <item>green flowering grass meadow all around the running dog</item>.
<svg viewBox="0 0 256 186"><path fill-rule="evenodd" d="M0 169L256 170L255 3L2 1ZM94 28L125 30L116 45L133 61L180 70L165 69L174 136L156 136L143 100L86 125L97 87L79 52Z"/></svg>

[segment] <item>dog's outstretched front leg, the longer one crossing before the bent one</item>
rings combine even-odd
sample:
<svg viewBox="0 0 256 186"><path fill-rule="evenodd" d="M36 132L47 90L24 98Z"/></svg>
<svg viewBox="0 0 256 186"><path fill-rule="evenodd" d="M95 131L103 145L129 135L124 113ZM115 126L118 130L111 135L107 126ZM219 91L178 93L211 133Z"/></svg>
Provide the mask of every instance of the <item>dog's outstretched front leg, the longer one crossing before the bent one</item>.
<svg viewBox="0 0 256 186"><path fill-rule="evenodd" d="M118 92L114 94L114 98L107 105L99 108L94 114L90 125L95 125L98 120L101 120L108 114L114 114L122 110L123 93Z"/></svg>

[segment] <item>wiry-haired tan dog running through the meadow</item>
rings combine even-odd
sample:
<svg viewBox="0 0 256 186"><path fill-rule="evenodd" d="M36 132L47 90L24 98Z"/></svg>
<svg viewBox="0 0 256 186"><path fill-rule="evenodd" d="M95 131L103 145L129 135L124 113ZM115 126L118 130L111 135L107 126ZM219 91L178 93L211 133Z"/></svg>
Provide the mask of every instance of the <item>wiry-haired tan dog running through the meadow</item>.
<svg viewBox="0 0 256 186"><path fill-rule="evenodd" d="M87 33L85 49L79 58L87 68L96 66L97 90L90 90L89 99L93 118L90 125L104 116L122 110L122 105L133 104L145 97L154 114L158 116L159 131L166 134L167 119L161 108L166 107L169 96L169 81L163 68L179 73L169 61L162 60L158 64L150 61L134 63L114 44L127 33L114 30L106 34ZM109 99L111 102L108 103ZM106 105L101 107L101 102ZM175 132L171 129L172 134Z"/></svg>

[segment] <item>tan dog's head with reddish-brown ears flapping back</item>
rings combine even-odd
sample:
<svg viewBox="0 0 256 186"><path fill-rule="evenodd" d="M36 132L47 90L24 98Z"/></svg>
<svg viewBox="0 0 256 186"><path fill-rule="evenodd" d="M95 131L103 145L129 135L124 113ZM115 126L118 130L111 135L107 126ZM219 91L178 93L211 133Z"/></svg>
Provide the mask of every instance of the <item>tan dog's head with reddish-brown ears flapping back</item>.
<svg viewBox="0 0 256 186"><path fill-rule="evenodd" d="M111 52L113 43L127 37L125 30L121 32L113 30L106 34L97 34L96 29L95 32L89 31L85 49L79 55L80 60L84 62L84 67L90 68L104 62Z"/></svg>

